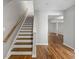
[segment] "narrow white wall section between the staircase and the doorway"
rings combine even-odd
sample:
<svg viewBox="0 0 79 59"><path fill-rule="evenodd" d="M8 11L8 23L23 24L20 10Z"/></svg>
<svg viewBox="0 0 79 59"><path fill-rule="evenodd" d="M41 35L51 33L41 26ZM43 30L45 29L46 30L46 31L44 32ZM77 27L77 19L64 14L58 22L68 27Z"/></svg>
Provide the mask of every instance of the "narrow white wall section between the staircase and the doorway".
<svg viewBox="0 0 79 59"><path fill-rule="evenodd" d="M37 16L37 44L48 44L48 17L45 12L35 13Z"/></svg>

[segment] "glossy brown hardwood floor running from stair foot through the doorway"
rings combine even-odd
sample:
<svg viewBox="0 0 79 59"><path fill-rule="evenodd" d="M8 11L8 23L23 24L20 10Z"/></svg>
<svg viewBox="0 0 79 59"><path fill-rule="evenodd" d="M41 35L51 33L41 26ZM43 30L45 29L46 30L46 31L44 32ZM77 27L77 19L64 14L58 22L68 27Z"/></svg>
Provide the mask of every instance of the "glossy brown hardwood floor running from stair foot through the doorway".
<svg viewBox="0 0 79 59"><path fill-rule="evenodd" d="M11 56L10 59L75 59L74 50L63 45L57 36L50 36L47 45L37 46L37 57Z"/></svg>

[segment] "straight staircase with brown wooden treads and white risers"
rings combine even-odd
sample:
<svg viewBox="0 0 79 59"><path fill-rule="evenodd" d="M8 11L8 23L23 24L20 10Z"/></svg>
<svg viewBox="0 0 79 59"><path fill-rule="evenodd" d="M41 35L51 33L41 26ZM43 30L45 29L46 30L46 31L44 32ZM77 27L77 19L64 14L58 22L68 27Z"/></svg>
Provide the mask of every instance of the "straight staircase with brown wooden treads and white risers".
<svg viewBox="0 0 79 59"><path fill-rule="evenodd" d="M8 58L14 59L12 56L32 56L32 43L33 43L33 18L27 19L21 25L17 36L10 47ZM15 58L19 59L19 58Z"/></svg>

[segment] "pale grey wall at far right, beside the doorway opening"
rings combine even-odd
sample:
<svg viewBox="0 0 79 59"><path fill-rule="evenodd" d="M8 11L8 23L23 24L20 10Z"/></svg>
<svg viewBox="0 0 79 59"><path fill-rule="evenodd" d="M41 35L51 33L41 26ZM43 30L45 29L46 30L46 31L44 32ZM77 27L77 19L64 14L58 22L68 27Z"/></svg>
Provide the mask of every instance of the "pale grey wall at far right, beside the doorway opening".
<svg viewBox="0 0 79 59"><path fill-rule="evenodd" d="M75 48L75 6L64 12L63 34L64 43Z"/></svg>

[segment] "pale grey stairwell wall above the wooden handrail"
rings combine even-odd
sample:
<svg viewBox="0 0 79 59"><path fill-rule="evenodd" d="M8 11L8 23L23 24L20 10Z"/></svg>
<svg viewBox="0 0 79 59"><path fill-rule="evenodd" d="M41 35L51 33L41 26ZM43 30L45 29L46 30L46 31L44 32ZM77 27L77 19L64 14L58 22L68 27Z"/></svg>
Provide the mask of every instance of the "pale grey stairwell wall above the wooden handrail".
<svg viewBox="0 0 79 59"><path fill-rule="evenodd" d="M16 24L18 19L24 14L26 9L22 7L20 1L12 1L3 9L3 36L4 38L10 32L11 28Z"/></svg>

